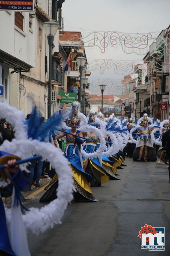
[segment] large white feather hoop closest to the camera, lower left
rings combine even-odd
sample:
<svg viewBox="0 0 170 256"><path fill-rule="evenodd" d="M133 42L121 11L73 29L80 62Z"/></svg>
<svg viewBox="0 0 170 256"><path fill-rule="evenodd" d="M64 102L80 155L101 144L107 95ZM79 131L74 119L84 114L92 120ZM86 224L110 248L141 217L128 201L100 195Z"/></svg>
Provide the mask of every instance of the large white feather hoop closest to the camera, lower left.
<svg viewBox="0 0 170 256"><path fill-rule="evenodd" d="M12 154L17 154L22 158L31 156L31 154L38 155L41 152L42 160L48 160L59 177L57 199L40 209L30 208L30 211L22 216L26 230L37 234L53 227L54 224L60 224L68 203L72 201L72 192L75 189L72 184L72 171L68 160L63 156L63 152L50 143L31 139L3 143L1 150L9 151L9 146ZM20 152L18 152L18 148L20 148ZM11 211L7 208L6 219L10 223Z"/></svg>

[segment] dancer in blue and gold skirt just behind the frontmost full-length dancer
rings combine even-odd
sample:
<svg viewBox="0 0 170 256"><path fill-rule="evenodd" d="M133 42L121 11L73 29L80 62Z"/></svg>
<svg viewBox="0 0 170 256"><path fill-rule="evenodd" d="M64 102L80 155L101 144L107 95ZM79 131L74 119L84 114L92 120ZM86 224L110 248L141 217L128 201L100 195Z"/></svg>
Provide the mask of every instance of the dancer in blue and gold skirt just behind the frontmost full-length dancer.
<svg viewBox="0 0 170 256"><path fill-rule="evenodd" d="M94 125L95 127L99 128L100 125L95 123L95 113L90 112L89 114L89 120L88 120L89 125ZM86 137L89 141L86 141L86 144L84 145L84 151L88 153L93 153L97 151L98 147L97 146L97 141L99 141L98 136L95 135L94 132L90 132L89 135ZM96 141L96 142L92 142ZM101 186L101 184L107 182L109 180L109 176L107 176L106 170L101 167L101 163L99 161L99 157L91 157L91 158L83 158L83 163L84 163L84 170L86 173L89 173L92 175L92 180L91 180L91 185L92 186Z"/></svg>

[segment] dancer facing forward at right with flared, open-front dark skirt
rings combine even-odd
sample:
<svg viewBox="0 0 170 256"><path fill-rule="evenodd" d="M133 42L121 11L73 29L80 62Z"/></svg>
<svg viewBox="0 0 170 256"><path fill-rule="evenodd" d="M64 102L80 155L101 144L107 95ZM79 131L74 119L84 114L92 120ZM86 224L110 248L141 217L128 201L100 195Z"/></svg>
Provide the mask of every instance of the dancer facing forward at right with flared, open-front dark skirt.
<svg viewBox="0 0 170 256"><path fill-rule="evenodd" d="M156 161L156 152L153 148L150 133L153 130L152 126L148 126L148 116L143 115L143 126L137 126L137 135L140 136L140 140L136 143L136 148L133 153L134 161L141 161L143 159L147 161Z"/></svg>

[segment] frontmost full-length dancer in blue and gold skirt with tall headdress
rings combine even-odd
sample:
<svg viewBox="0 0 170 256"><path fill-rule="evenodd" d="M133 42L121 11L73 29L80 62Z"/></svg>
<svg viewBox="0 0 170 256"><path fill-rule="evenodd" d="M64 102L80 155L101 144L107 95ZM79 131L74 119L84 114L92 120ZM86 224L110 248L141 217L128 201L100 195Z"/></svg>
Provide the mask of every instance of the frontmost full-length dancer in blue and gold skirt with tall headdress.
<svg viewBox="0 0 170 256"><path fill-rule="evenodd" d="M71 129L66 129L65 132L55 136L54 139L61 139L66 136L66 150L64 152L64 156L69 160L73 174L73 184L76 188L74 200L98 202L98 200L93 196L91 188L89 187L89 182L91 181L92 176L86 173L83 169L83 160L80 147L84 140L77 137L77 135L84 135L84 133L82 133L80 130L77 130L79 108L79 102L72 103ZM56 190L57 186L58 177L56 174L51 183L48 185L46 193L41 197L40 202L48 202L53 200L56 197L54 191Z"/></svg>

